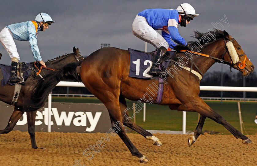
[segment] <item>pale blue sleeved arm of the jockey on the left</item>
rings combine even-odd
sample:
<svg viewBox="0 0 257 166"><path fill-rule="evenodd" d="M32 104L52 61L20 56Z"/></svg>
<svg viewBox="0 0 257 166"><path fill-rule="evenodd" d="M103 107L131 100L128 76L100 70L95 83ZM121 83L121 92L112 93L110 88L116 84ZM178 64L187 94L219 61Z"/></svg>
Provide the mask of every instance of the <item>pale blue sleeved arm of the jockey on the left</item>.
<svg viewBox="0 0 257 166"><path fill-rule="evenodd" d="M36 61L42 61L42 58L39 53L39 48L37 46L37 39L36 39L36 30L35 30L35 25L30 24L28 26L28 41L31 45L31 50L34 56L34 59Z"/></svg>

